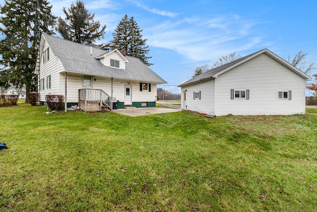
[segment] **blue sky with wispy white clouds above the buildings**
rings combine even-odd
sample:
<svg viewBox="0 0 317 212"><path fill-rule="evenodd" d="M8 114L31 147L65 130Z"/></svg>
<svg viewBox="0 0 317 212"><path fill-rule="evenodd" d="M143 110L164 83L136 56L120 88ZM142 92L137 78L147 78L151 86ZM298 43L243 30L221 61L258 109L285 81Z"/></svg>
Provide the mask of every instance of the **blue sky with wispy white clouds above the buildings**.
<svg viewBox="0 0 317 212"><path fill-rule="evenodd" d="M83 0L106 24L105 39L125 14L143 29L148 39L150 68L164 78L161 85L173 92L187 81L196 67L228 53L246 56L267 48L287 59L299 50L317 62L317 1L315 0ZM75 0L51 0L53 14ZM0 0L3 5L4 0ZM316 73L311 72L309 75ZM307 92L308 94L309 92Z"/></svg>

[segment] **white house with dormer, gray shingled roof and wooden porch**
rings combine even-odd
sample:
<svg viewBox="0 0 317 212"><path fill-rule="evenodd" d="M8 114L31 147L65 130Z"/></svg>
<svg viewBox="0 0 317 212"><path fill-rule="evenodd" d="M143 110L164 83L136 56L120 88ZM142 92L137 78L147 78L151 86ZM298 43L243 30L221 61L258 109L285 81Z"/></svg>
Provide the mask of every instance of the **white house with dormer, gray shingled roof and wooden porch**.
<svg viewBox="0 0 317 212"><path fill-rule="evenodd" d="M111 99L124 106L155 107L158 74L125 51L106 51L42 34L36 72L40 104L46 95L65 97L66 106L86 111L111 108ZM111 89L112 88L112 89Z"/></svg>

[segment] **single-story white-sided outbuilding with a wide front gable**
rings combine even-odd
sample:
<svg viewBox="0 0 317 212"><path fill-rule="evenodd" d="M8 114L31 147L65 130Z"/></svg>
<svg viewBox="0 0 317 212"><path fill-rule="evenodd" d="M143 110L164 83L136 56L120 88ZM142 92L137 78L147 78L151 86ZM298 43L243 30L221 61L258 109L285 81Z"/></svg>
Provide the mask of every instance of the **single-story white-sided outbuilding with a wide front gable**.
<svg viewBox="0 0 317 212"><path fill-rule="evenodd" d="M304 114L307 80L263 49L180 84L181 108L216 116Z"/></svg>

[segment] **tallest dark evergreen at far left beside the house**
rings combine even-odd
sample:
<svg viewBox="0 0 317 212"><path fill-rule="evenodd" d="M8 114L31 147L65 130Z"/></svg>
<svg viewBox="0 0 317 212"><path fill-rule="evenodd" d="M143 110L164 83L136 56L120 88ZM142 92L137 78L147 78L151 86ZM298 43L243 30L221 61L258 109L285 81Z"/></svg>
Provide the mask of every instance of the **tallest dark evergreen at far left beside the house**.
<svg viewBox="0 0 317 212"><path fill-rule="evenodd" d="M14 86L36 90L34 74L40 34L53 34L55 17L47 0L5 0L1 6L0 65ZM1 71L2 72L2 71Z"/></svg>

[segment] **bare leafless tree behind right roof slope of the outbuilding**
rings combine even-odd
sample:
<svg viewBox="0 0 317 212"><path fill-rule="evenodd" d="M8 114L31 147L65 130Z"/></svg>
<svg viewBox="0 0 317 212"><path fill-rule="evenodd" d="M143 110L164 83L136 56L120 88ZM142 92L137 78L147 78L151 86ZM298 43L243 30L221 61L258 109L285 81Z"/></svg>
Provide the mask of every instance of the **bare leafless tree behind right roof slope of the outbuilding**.
<svg viewBox="0 0 317 212"><path fill-rule="evenodd" d="M307 61L306 56L308 54L309 52L307 52L306 50L300 50L294 55L294 57L288 56L288 63L303 71L304 73L308 73L312 70L317 69L315 62Z"/></svg>

